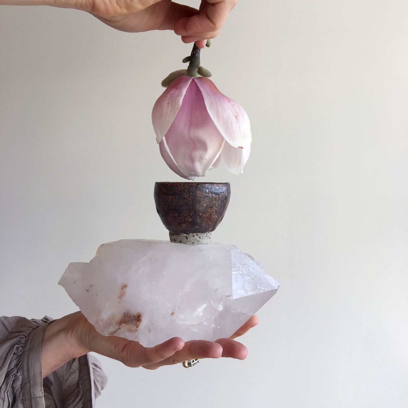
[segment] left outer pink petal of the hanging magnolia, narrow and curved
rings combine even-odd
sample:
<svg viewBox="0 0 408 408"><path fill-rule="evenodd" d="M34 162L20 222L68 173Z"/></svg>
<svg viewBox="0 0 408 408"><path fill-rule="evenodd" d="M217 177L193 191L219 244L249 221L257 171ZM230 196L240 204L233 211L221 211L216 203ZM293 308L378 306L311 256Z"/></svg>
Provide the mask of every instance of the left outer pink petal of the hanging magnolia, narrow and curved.
<svg viewBox="0 0 408 408"><path fill-rule="evenodd" d="M160 140L162 140L162 137L173 123L192 79L188 76L181 76L175 79L154 104L152 123L157 143L160 143Z"/></svg>

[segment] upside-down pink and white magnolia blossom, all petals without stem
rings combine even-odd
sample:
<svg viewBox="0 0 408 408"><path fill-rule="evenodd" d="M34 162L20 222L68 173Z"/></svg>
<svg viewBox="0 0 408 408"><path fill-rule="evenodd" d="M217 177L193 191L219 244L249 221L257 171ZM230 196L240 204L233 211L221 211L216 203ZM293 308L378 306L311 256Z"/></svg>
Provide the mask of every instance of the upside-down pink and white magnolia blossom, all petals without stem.
<svg viewBox="0 0 408 408"><path fill-rule="evenodd" d="M205 77L180 76L153 107L160 153L175 173L188 180L205 176L221 159L242 173L251 150L248 115Z"/></svg>

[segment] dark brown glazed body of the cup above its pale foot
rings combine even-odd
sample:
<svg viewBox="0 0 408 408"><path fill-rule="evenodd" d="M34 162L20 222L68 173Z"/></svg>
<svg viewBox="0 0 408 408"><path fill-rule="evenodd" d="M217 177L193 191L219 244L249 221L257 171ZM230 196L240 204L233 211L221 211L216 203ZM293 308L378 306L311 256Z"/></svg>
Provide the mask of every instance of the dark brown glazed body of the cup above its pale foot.
<svg viewBox="0 0 408 408"><path fill-rule="evenodd" d="M231 195L229 183L156 182L156 210L175 235L210 233L222 221Z"/></svg>

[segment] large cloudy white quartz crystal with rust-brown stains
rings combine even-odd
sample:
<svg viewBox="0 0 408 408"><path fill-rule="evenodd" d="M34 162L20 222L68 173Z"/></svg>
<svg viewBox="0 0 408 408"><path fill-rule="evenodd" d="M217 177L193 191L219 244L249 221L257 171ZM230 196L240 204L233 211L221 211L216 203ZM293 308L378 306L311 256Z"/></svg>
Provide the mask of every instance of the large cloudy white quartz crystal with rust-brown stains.
<svg viewBox="0 0 408 408"><path fill-rule="evenodd" d="M146 347L175 336L229 337L279 287L233 245L144 239L101 245L58 283L99 333Z"/></svg>

